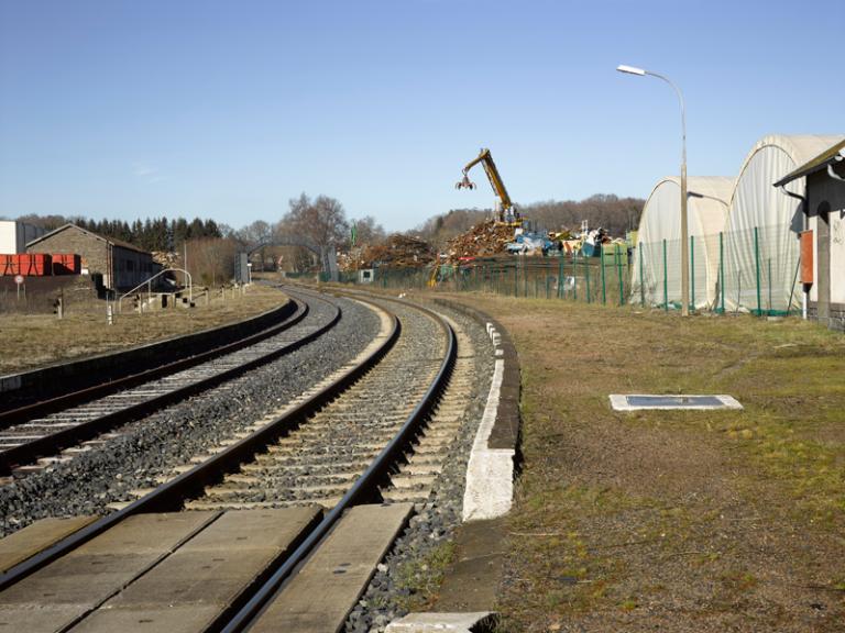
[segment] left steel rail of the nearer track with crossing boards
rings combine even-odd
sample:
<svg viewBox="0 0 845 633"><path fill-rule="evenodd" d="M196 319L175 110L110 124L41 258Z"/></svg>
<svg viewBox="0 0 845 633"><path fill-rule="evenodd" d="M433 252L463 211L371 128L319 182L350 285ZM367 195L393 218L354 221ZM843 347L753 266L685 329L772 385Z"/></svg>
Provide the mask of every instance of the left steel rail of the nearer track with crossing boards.
<svg viewBox="0 0 845 633"><path fill-rule="evenodd" d="M358 366L350 368L338 380L328 385L319 392L310 396L284 415L273 420L227 449L209 457L190 470L179 475L171 481L160 486L149 495L130 503L122 510L103 517L94 523L83 528L78 532L63 538L39 554L15 565L0 575L0 591L19 582L26 576L48 565L53 560L68 554L73 549L87 543L95 536L113 528L128 517L149 512L167 512L179 510L185 501L198 497L206 486L217 484L230 473L237 471L241 464L249 462L256 454L266 448L284 432L296 426L301 419L315 413L331 400L340 396L364 374L372 369L389 352L399 337L400 324L394 315L391 333L386 340L373 351Z"/></svg>

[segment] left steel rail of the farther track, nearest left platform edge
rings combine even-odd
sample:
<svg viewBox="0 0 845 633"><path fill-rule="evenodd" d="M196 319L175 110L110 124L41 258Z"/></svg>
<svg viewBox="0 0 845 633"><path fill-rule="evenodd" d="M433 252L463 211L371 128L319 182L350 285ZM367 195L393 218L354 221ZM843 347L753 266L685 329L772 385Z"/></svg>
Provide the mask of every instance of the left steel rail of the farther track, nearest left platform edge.
<svg viewBox="0 0 845 633"><path fill-rule="evenodd" d="M259 341L274 336L279 332L284 332L285 330L293 327L307 315L307 304L303 309L303 303L300 301L293 299L292 301L296 306L293 314L287 315L287 318L281 323L272 325L271 327L262 330L261 332L256 332L255 334L251 334L244 338L240 338L238 341L233 341L232 343L228 343L212 349L207 349L205 352L200 352L193 356L187 356L172 363L158 365L157 367L145 369L138 374L132 374L130 376L123 376L121 378L114 378L111 380L107 379L98 385L85 387L69 393L63 393L62 396L55 396L53 398L33 402L31 404L25 404L23 407L18 407L15 409L0 411L0 430L8 429L13 424L19 424L40 415L47 415L50 413L55 413L56 411L62 411L63 409L74 407L76 404L81 404L83 402L89 402L97 398L114 393L129 387L142 385L149 380L154 380L182 369L187 369L194 365L211 360L224 354L237 352L242 347L253 345Z"/></svg>

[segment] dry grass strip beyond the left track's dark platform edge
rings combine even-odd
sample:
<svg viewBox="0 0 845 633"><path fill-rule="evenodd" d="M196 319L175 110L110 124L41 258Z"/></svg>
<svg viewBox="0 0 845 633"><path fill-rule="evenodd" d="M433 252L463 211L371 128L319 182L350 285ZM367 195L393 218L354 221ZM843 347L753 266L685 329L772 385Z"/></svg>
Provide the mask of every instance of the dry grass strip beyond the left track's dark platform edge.
<svg viewBox="0 0 845 633"><path fill-rule="evenodd" d="M0 375L15 374L52 363L102 354L180 334L241 321L279 306L286 297L277 289L252 286L244 295L212 290L207 303L200 296L193 309L172 308L139 314L124 306L107 325L106 302L76 302L61 321L50 314L0 314Z"/></svg>

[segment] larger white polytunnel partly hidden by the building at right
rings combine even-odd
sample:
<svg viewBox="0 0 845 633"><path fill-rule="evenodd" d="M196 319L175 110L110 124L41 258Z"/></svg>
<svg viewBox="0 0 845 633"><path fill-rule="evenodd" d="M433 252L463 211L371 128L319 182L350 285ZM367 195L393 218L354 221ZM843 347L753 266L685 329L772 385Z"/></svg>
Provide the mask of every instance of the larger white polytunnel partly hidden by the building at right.
<svg viewBox="0 0 845 633"><path fill-rule="evenodd" d="M727 310L784 314L800 310L799 233L805 179L772 185L842 141L832 136L766 136L743 163L725 224L724 297ZM722 292L722 290L720 290Z"/></svg>

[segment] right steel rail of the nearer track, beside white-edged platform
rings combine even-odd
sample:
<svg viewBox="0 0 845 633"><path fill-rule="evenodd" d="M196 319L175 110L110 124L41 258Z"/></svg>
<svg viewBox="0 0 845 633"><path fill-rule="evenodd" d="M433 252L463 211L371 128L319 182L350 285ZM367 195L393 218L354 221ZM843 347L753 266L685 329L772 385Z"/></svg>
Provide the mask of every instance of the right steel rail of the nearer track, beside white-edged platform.
<svg viewBox="0 0 845 633"><path fill-rule="evenodd" d="M396 301L395 299L384 299ZM408 306L406 302L396 302L402 303L403 306ZM293 554L285 559L281 567L253 595L244 607L238 611L229 622L224 623L224 626L220 628L221 618L218 619L218 622L212 624L208 631L221 631L222 633L239 633L241 631L246 631L267 609L272 603L273 598L284 589L285 584L292 577L292 574L305 564L311 553L328 537L343 512L360 503L381 501L378 485L389 477L399 459L404 459L404 455L410 446L411 441L419 433L422 423L428 418L446 389L458 356L457 340L451 325L431 310L420 306L414 306L414 308L435 319L445 331L448 341L443 362L425 396L403 423L398 433L391 440L387 446L382 449L364 474L359 477L352 488L343 496L338 504L326 514L317 528L306 536L305 541L303 541Z"/></svg>

